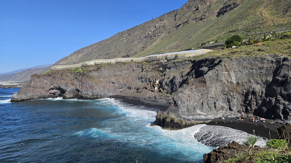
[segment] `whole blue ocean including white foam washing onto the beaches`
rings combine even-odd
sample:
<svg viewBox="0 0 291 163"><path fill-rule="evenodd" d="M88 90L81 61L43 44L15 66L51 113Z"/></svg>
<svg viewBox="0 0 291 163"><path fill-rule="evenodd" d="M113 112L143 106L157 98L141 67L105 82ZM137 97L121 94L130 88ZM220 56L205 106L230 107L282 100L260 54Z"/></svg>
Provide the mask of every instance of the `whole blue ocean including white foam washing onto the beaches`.
<svg viewBox="0 0 291 163"><path fill-rule="evenodd" d="M118 99L9 102L17 91L0 89L0 162L203 162L204 153L249 135L205 124L152 127L157 108Z"/></svg>

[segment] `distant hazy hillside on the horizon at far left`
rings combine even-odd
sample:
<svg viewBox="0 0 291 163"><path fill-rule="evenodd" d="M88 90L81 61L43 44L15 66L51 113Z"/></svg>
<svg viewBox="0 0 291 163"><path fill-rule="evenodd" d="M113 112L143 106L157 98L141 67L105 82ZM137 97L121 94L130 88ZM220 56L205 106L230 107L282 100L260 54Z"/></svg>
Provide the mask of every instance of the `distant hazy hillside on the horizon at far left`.
<svg viewBox="0 0 291 163"><path fill-rule="evenodd" d="M8 83L20 83L20 82L28 82L30 76L33 74L40 74L44 73L49 70L49 67L42 67L42 68L32 68L28 70L24 70L18 73L8 74L8 75L1 75L0 76L0 83L8 82Z"/></svg>

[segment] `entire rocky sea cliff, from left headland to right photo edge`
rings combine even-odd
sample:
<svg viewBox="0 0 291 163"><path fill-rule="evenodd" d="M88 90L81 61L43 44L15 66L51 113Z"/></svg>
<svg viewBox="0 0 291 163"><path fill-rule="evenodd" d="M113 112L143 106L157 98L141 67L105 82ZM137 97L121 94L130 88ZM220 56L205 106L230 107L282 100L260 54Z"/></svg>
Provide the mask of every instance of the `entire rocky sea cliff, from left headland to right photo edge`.
<svg viewBox="0 0 291 163"><path fill-rule="evenodd" d="M163 91L154 90L155 80ZM290 58L281 55L129 63L33 75L12 102L44 98L128 96L172 104L152 125L180 129L222 114L289 119ZM162 93L164 92L164 93ZM272 115L274 117L272 117Z"/></svg>

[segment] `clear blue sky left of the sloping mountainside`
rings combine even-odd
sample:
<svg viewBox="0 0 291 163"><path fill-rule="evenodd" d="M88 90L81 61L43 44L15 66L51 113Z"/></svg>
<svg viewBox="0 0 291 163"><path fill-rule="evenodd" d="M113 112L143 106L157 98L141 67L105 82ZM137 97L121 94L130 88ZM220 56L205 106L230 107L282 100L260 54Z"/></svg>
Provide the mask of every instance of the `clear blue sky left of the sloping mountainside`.
<svg viewBox="0 0 291 163"><path fill-rule="evenodd" d="M0 0L0 73L51 64L188 0Z"/></svg>

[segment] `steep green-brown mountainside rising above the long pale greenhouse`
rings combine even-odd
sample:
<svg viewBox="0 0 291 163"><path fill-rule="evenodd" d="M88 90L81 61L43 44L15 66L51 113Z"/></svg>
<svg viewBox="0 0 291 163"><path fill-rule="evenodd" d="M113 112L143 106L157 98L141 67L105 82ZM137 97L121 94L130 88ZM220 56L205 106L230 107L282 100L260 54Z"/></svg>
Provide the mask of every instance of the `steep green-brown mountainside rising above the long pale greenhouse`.
<svg viewBox="0 0 291 163"><path fill-rule="evenodd" d="M143 57L223 42L237 31L245 39L291 28L290 0L189 0L182 8L73 52L54 65L93 59Z"/></svg>

